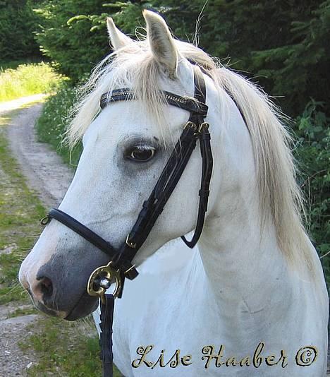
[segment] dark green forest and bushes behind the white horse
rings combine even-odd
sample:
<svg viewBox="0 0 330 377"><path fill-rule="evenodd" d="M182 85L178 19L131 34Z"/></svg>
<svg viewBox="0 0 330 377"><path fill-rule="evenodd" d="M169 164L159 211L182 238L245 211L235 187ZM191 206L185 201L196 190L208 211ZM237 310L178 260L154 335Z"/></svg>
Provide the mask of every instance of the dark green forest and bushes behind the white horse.
<svg viewBox="0 0 330 377"><path fill-rule="evenodd" d="M0 0L1 61L47 59L70 79L45 105L40 139L56 148L75 86L109 54L106 16L134 37L137 25L144 27L143 8L161 13L173 34L190 42L200 19L200 47L261 85L291 117L307 229L329 277L329 0Z"/></svg>

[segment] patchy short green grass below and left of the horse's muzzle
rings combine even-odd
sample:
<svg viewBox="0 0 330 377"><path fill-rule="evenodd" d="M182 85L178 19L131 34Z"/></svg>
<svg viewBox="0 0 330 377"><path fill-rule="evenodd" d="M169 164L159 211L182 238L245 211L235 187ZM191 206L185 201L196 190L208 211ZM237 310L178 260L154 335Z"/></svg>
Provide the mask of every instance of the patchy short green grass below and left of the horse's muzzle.
<svg viewBox="0 0 330 377"><path fill-rule="evenodd" d="M15 301L17 306L30 303L18 284L21 261L42 231L39 219L45 209L30 191L18 163L11 156L6 127L17 110L0 118L0 304ZM37 313L30 306L18 307L8 317ZM42 317L30 325L33 333L20 342L23 352L33 349L37 362L27 370L28 376L90 376L101 375L99 344L91 321L70 323L57 318ZM1 374L1 373L0 373ZM120 373L115 370L115 377Z"/></svg>

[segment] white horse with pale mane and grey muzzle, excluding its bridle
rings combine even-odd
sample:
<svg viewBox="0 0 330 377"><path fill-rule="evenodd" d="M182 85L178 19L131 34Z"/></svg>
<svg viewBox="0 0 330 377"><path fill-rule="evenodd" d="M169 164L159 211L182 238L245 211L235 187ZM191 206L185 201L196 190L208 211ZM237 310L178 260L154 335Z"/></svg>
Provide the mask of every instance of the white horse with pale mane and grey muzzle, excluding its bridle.
<svg viewBox="0 0 330 377"><path fill-rule="evenodd" d="M214 172L198 247L160 249L195 227L197 148L138 252L140 275L116 300L116 365L125 376L325 376L328 295L276 109L255 85L174 40L160 16L144 16L140 42L108 20L116 51L94 71L68 131L84 150L60 209L123 242L189 116L162 104L159 89L193 97L191 61L208 73ZM99 112L102 93L116 88L138 100ZM96 308L86 284L104 263L102 251L51 221L20 282L39 309L74 320Z"/></svg>

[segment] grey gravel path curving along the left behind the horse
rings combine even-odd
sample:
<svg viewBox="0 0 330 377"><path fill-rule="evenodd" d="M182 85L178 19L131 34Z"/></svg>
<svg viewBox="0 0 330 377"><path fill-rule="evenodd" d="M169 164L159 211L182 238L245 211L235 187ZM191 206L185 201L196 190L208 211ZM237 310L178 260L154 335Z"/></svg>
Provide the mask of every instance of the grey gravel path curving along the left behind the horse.
<svg viewBox="0 0 330 377"><path fill-rule="evenodd" d="M33 96L0 104L0 117L6 117L11 110L22 104L40 99L41 96ZM21 109L7 127L6 136L28 186L37 193L45 208L50 208L56 206L63 198L73 171L63 164L61 158L48 145L36 141L34 125L41 109L42 104ZM7 249L1 253L11 253L11 249ZM18 310L27 314L17 315ZM21 304L17 301L0 305L1 377L26 376L27 369L37 361L37 354L30 347L23 352L18 345L35 331L30 325L42 318L39 314L31 314L29 311L32 311L31 304Z"/></svg>

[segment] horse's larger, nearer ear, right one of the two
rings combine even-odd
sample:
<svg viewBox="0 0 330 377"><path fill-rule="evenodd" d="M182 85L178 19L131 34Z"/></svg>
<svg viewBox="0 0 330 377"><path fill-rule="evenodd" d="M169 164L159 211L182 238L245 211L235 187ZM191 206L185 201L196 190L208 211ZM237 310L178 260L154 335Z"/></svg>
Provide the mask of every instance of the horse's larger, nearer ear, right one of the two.
<svg viewBox="0 0 330 377"><path fill-rule="evenodd" d="M161 16L152 11L144 10L143 17L147 23L148 40L154 58L170 78L176 78L178 52L168 26Z"/></svg>

